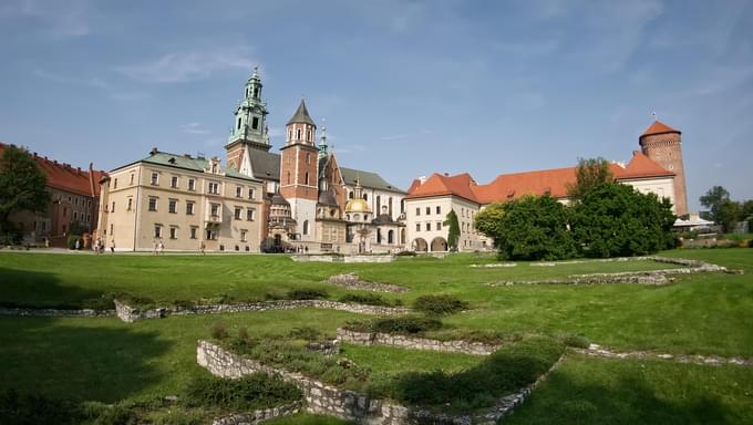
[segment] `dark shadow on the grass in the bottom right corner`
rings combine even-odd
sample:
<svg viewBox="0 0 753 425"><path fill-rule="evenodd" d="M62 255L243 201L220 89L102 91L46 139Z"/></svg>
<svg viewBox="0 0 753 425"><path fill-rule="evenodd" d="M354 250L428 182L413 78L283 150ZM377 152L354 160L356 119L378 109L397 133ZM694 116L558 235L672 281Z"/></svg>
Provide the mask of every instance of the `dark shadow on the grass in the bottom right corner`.
<svg viewBox="0 0 753 425"><path fill-rule="evenodd" d="M678 388L678 393L683 393ZM663 398L663 400L662 400ZM683 394L682 398L687 398ZM505 423L520 424L732 424L741 423L709 396L670 402L644 380L621 375L608 385L584 385L554 372Z"/></svg>

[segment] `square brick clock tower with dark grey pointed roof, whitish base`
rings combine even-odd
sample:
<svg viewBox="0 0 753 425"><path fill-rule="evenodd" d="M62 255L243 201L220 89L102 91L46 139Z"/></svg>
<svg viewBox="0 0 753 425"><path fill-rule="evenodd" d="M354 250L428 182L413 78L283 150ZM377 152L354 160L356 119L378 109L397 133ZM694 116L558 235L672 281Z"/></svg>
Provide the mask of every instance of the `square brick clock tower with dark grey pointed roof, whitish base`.
<svg viewBox="0 0 753 425"><path fill-rule="evenodd" d="M289 203L292 217L298 222L301 240L313 240L318 190L317 125L311 120L306 102L287 125L287 139L281 148L280 195Z"/></svg>

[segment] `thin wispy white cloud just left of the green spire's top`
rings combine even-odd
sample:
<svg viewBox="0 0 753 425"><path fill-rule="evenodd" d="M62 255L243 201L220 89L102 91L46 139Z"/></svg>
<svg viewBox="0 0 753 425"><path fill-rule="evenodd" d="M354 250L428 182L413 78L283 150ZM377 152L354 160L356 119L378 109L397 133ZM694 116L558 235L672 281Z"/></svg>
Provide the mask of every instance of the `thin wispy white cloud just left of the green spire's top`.
<svg viewBox="0 0 753 425"><path fill-rule="evenodd" d="M149 83L184 83L204 80L217 72L244 69L249 72L256 62L248 49L168 53L153 61L117 66L116 70L134 80Z"/></svg>

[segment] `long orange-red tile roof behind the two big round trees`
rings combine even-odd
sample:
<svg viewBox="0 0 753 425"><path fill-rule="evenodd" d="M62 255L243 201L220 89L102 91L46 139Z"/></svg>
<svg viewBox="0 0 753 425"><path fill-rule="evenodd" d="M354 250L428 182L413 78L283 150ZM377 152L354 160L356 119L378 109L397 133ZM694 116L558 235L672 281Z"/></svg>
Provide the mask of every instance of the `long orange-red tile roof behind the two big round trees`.
<svg viewBox="0 0 753 425"><path fill-rule="evenodd" d="M633 152L632 159L627 166L611 163L609 168L618 182L674 175L638 151ZM575 182L576 167L501 174L487 185L477 185L467 173L456 176L433 174L423 184L414 180L408 190L408 198L455 195L481 205L546 193L555 198L565 198L567 187Z"/></svg>

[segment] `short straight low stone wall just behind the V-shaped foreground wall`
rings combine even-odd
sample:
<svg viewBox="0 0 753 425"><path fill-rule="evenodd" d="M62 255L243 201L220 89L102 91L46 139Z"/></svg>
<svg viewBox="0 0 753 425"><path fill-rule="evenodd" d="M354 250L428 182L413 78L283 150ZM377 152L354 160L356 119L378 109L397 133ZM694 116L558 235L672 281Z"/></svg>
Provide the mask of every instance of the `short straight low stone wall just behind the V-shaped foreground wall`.
<svg viewBox="0 0 753 425"><path fill-rule="evenodd" d="M357 332L338 328L338 340L359 345L386 345L409 350L429 350L441 353L462 353L473 355L489 355L502 345L485 344L468 341L440 341L427 338L393 335L380 332Z"/></svg>

